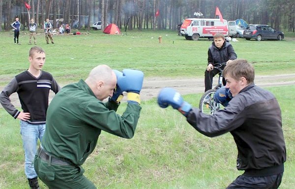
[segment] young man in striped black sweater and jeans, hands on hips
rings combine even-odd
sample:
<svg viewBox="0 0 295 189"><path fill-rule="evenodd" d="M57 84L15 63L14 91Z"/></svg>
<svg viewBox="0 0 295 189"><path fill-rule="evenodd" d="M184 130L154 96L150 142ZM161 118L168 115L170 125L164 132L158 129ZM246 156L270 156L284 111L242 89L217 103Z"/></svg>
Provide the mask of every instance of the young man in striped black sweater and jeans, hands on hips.
<svg viewBox="0 0 295 189"><path fill-rule="evenodd" d="M45 52L40 47L29 50L29 69L16 75L0 94L3 108L14 118L20 119L21 135L25 150L25 174L31 189L39 189L33 160L37 151L37 141L44 135L49 91L56 94L60 87L53 76L42 71ZM9 96L17 93L23 111L15 108Z"/></svg>

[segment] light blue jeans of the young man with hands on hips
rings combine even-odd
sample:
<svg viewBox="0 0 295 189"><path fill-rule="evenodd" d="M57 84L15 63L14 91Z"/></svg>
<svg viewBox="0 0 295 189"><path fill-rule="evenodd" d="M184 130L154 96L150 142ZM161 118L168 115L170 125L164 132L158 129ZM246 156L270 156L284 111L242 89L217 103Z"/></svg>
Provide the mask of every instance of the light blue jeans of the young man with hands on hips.
<svg viewBox="0 0 295 189"><path fill-rule="evenodd" d="M37 152L38 138L40 141L45 132L45 124L33 125L21 120L21 135L23 139L23 147L25 150L25 174L28 179L37 176L33 162Z"/></svg>

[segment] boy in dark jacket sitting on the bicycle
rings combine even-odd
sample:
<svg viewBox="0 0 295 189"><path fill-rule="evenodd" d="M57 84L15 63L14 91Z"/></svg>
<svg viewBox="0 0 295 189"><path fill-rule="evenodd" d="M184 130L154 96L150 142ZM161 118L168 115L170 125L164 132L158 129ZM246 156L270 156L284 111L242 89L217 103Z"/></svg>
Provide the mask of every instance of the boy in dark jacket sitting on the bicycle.
<svg viewBox="0 0 295 189"><path fill-rule="evenodd" d="M205 92L212 89L213 77L219 73L219 70L216 68L213 69L213 66L216 63L230 63L237 58L233 46L225 40L222 33L215 33L213 40L214 42L212 42L208 49L208 65L205 71ZM223 79L223 85L225 84L226 82Z"/></svg>

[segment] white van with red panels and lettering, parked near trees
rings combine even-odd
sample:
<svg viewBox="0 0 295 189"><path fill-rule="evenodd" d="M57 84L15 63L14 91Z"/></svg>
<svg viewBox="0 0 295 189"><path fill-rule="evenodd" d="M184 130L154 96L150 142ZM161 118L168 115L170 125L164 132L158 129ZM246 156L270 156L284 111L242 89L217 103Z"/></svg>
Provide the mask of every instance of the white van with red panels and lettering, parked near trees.
<svg viewBox="0 0 295 189"><path fill-rule="evenodd" d="M233 23L234 22L234 25ZM234 28L232 28L234 27ZM236 34L235 21L213 18L187 18L183 21L180 33L187 40L199 40L199 37L212 38L215 33L223 33L225 36Z"/></svg>

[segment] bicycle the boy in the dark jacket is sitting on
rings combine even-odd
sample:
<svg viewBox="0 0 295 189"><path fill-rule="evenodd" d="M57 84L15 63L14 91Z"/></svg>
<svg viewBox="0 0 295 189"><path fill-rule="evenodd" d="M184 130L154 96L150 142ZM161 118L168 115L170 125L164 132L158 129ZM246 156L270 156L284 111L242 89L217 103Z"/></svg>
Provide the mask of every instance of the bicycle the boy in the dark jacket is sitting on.
<svg viewBox="0 0 295 189"><path fill-rule="evenodd" d="M215 66L213 66L213 69L214 68L218 69L220 73L219 73L217 85L213 89L206 91L201 97L201 100L199 103L199 109L204 114L213 115L217 110L220 110L223 108L223 106L220 103L217 103L216 101L214 101L213 96L219 88L223 87L223 83L222 83L223 69L221 68L224 65L226 65L226 63L218 63L218 64L215 64ZM207 102L206 99L209 99L209 102Z"/></svg>

